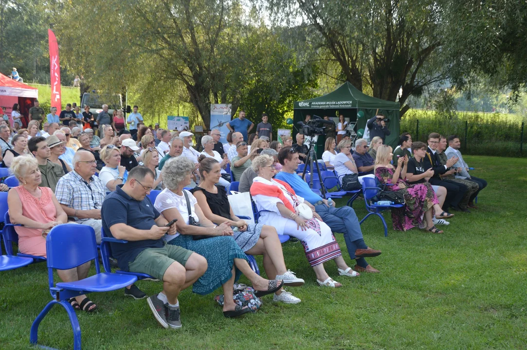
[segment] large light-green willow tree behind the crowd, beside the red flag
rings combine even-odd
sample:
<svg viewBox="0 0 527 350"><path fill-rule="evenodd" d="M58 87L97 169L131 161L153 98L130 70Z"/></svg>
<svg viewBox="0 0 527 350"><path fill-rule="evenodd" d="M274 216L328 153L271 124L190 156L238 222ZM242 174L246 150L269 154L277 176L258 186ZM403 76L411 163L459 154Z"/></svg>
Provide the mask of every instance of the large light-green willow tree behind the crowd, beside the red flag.
<svg viewBox="0 0 527 350"><path fill-rule="evenodd" d="M205 125L210 123L211 103L232 103L236 110L248 86L261 78L262 66L273 69L267 75L285 74L272 76L285 80L298 71L286 67L295 61L284 55L274 65L261 64L283 47L269 45L272 33L259 22L248 23L251 18L245 17L237 1L79 0L75 6L63 3L55 11L62 18L83 18L74 23L58 21L57 34L63 47L83 43L88 54L66 51L66 63L81 69L91 85L108 91L138 87L139 95L163 98L170 97L170 88L183 86ZM263 47L269 51L262 51ZM141 90L147 86L149 91ZM155 98L160 100L166 101Z"/></svg>

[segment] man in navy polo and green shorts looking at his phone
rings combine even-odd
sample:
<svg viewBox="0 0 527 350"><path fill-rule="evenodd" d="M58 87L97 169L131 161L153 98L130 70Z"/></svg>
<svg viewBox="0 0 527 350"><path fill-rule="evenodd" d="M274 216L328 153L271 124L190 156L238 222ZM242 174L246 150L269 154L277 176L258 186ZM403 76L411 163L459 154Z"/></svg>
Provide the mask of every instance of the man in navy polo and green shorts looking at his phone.
<svg viewBox="0 0 527 350"><path fill-rule="evenodd" d="M167 227L169 222L147 197L153 186L154 173L149 168L134 168L124 185L105 198L102 225L109 237L128 241L110 243L123 271L163 281L163 291L148 298L155 319L164 328L181 328L178 295L205 273L207 260L177 245L164 244L162 237L175 235L176 225Z"/></svg>

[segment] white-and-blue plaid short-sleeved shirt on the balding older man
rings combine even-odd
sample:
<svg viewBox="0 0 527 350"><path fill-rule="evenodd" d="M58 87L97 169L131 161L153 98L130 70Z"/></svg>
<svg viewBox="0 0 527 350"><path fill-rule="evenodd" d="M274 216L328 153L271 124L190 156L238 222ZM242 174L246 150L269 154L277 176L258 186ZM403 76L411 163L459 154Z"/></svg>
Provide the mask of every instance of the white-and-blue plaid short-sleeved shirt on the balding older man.
<svg viewBox="0 0 527 350"><path fill-rule="evenodd" d="M101 209L106 188L99 177L92 176L88 184L81 175L71 171L58 180L55 196L58 203L75 210Z"/></svg>

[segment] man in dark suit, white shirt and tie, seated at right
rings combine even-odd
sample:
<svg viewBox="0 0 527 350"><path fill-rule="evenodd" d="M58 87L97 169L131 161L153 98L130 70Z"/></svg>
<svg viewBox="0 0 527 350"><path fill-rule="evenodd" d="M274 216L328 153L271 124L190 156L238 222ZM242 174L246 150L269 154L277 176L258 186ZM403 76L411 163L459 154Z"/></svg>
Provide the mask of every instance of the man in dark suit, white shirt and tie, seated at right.
<svg viewBox="0 0 527 350"><path fill-rule="evenodd" d="M434 171L434 176L428 182L433 186L443 186L446 188L446 199L443 204L444 211L448 211L448 208L451 206L455 210L467 211L466 208L461 209L459 207L461 199L467 191L467 187L461 183L455 183L454 181L441 178L441 175L445 174L448 168L456 164L458 159L448 159L445 165L441 165L441 161L436 152L440 139L441 135L438 133L428 135L428 148L426 149L426 156L423 159L423 165L425 169L432 168Z"/></svg>

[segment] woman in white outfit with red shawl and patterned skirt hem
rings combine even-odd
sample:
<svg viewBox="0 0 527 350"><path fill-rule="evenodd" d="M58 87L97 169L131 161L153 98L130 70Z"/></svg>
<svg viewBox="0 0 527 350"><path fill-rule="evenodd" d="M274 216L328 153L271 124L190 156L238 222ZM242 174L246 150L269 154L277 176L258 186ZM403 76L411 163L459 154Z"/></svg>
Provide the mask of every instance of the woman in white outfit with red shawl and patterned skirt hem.
<svg viewBox="0 0 527 350"><path fill-rule="evenodd" d="M317 283L333 288L342 286L326 273L324 263L329 260L335 261L340 275L358 276L346 265L331 229L321 221L320 216L313 212L314 217L306 220L296 214L297 207L302 203L311 209L313 206L297 196L287 183L272 178L276 173L272 157L260 155L253 159L251 167L258 176L253 179L250 193L258 211L264 211L258 222L272 225L278 234L290 235L302 242L309 265L317 275Z"/></svg>

